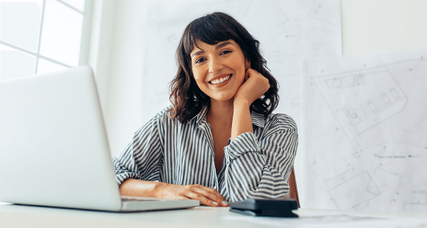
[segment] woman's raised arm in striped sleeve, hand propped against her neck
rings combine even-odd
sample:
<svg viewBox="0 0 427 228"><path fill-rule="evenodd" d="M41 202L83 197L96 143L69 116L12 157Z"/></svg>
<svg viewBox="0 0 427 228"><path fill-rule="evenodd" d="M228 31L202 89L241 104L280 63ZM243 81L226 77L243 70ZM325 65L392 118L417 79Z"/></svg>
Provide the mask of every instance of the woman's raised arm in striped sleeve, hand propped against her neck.
<svg viewBox="0 0 427 228"><path fill-rule="evenodd" d="M263 138L253 134L249 104L270 87L268 79L249 69L248 79L234 99L231 141L224 148L221 193L231 201L246 198L279 198L288 193L288 177L297 148L295 122L276 115L265 124Z"/></svg>

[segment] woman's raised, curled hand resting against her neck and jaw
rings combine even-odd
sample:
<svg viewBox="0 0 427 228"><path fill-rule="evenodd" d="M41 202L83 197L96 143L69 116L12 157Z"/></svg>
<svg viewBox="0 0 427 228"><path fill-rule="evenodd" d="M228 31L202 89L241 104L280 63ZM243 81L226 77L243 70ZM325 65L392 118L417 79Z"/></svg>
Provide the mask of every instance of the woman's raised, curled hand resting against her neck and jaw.
<svg viewBox="0 0 427 228"><path fill-rule="evenodd" d="M246 71L245 82L234 95L234 104L247 103L251 105L253 101L260 98L270 88L268 79L251 68Z"/></svg>

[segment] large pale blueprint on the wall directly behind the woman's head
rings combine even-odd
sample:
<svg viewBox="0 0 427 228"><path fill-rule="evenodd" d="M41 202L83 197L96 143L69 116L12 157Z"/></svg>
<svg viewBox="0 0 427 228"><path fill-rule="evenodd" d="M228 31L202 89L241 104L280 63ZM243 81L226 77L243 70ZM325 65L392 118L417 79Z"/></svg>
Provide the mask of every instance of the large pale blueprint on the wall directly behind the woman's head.
<svg viewBox="0 0 427 228"><path fill-rule="evenodd" d="M223 11L260 41L268 68L280 85L275 113L297 125L302 116L302 59L341 54L339 0L201 1L149 10L144 34L142 122L169 105L169 82L176 74L175 51L189 22Z"/></svg>

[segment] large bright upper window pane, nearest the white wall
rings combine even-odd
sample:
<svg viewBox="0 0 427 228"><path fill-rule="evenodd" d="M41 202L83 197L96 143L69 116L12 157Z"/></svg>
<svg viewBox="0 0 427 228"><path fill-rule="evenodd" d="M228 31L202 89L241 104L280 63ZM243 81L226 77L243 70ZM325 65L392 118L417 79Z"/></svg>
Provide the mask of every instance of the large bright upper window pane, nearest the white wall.
<svg viewBox="0 0 427 228"><path fill-rule="evenodd" d="M83 14L48 0L41 31L40 54L69 66L78 66Z"/></svg>

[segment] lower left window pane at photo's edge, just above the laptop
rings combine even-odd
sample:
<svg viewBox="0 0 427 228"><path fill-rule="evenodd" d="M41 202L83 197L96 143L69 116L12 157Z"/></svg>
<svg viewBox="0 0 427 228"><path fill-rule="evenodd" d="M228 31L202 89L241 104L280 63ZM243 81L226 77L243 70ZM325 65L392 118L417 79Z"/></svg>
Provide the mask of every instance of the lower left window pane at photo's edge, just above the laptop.
<svg viewBox="0 0 427 228"><path fill-rule="evenodd" d="M8 80L34 74L36 56L28 55L14 48L0 45L0 80Z"/></svg>

